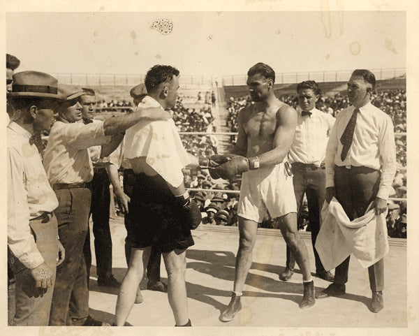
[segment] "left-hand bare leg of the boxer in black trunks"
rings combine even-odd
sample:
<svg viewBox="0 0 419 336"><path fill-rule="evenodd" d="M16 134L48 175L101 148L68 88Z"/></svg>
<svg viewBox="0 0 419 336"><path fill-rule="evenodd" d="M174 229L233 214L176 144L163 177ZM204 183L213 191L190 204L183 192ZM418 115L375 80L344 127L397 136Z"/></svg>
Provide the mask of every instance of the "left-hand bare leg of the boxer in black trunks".
<svg viewBox="0 0 419 336"><path fill-rule="evenodd" d="M128 319L151 250L151 246L141 249L131 249L128 270L122 280L121 288L119 288L117 307L115 309L116 326L124 326L126 319Z"/></svg>

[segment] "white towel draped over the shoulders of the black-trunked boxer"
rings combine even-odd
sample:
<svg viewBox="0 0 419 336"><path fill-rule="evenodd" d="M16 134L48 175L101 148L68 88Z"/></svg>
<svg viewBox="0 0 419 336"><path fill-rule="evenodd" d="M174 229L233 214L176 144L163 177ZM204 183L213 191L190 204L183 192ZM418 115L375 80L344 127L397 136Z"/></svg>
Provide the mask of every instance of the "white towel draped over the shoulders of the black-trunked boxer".
<svg viewBox="0 0 419 336"><path fill-rule="evenodd" d="M154 98L145 96L138 107L161 108L161 105ZM182 184L182 168L191 163L173 119L138 122L126 131L124 157L135 159L143 156L146 163L173 187Z"/></svg>

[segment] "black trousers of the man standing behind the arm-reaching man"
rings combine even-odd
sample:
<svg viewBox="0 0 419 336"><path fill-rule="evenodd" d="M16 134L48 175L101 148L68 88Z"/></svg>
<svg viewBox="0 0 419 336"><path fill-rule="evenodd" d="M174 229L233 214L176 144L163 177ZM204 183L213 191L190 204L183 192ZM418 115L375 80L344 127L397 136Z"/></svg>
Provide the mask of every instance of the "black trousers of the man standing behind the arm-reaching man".
<svg viewBox="0 0 419 336"><path fill-rule="evenodd" d="M105 168L94 170L91 180L91 219L93 220L94 251L96 256L96 275L110 277L112 275L112 238L109 226L110 189L109 176ZM89 224L87 224L89 225ZM89 285L91 267L90 232L83 247L86 261L87 285Z"/></svg>

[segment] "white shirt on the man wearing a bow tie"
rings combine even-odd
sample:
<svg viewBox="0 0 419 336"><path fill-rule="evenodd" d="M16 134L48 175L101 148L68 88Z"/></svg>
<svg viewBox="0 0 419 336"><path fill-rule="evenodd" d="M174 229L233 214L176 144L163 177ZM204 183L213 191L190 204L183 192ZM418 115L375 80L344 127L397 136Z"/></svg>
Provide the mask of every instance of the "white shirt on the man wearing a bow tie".
<svg viewBox="0 0 419 336"><path fill-rule="evenodd" d="M298 107L297 128L288 156L289 161L312 163L320 167L325 159L326 146L335 118L316 108L310 111L311 115L302 116L301 112L301 108Z"/></svg>

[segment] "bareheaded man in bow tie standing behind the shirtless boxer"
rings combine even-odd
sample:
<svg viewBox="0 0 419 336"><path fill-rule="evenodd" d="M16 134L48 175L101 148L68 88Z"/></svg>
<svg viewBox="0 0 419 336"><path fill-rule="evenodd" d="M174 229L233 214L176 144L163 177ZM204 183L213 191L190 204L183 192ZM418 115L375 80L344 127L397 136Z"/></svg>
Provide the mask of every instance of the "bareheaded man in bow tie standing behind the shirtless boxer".
<svg viewBox="0 0 419 336"><path fill-rule="evenodd" d="M316 277L333 281L330 271L323 268L314 245L321 223L321 207L325 200L325 152L329 134L335 124L335 118L316 109L320 89L314 80L300 82L297 85L297 128L293 144L288 154L293 168L293 185L297 212L300 215L304 193L309 206L311 243L316 263ZM294 273L295 259L291 249L286 247L286 269L279 275L283 281L291 279Z"/></svg>

